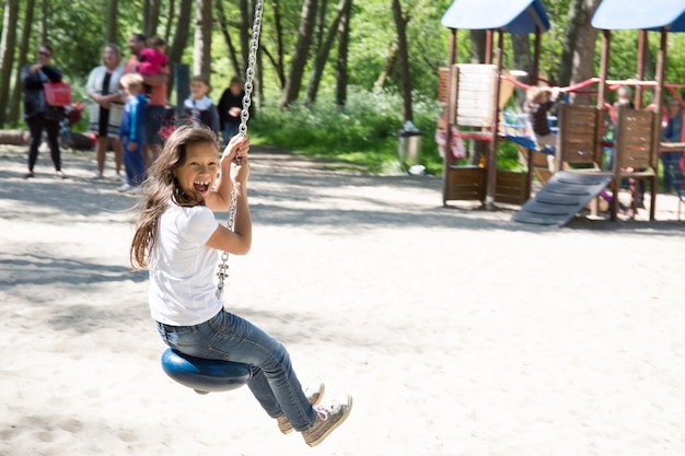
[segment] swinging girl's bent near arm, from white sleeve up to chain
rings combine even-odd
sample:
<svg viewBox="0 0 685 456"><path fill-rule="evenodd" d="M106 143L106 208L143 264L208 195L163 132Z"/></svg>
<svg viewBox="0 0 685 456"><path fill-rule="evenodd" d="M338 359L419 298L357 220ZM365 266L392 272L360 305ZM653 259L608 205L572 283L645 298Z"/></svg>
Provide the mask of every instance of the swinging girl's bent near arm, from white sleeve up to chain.
<svg viewBox="0 0 685 456"><path fill-rule="evenodd" d="M247 155L242 157L240 165L230 163L230 167L231 180L235 189L234 231L219 225L207 241L207 245L229 254L245 255L252 247L252 217L249 214L249 204L247 203L247 176L249 174Z"/></svg>

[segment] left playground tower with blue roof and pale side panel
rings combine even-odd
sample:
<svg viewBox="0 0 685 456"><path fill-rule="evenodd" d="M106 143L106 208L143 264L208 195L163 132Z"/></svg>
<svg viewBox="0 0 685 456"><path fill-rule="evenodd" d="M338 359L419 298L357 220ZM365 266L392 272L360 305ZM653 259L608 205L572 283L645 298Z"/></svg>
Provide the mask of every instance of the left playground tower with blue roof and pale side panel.
<svg viewBox="0 0 685 456"><path fill-rule="evenodd" d="M521 204L531 192L533 155L529 156L527 173L497 169L503 33L535 34L535 70L531 81L536 83L541 34L549 28L542 1L455 0L441 22L452 31L450 63L441 72L442 90L439 95L448 105L448 124L469 128L464 138L487 144L485 160L478 166L458 166L453 157L445 155L443 204L450 200L479 200L489 209L496 201ZM487 31L484 66L455 62L458 28ZM498 32L498 40L492 62L495 31Z"/></svg>

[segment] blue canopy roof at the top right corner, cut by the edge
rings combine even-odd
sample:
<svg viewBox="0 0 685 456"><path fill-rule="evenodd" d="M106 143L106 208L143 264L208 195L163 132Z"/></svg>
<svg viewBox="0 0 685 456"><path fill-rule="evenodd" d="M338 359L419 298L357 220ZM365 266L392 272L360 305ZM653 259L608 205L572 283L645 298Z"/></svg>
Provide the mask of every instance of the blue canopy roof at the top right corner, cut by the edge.
<svg viewBox="0 0 685 456"><path fill-rule="evenodd" d="M602 0L592 16L592 26L685 32L685 0Z"/></svg>

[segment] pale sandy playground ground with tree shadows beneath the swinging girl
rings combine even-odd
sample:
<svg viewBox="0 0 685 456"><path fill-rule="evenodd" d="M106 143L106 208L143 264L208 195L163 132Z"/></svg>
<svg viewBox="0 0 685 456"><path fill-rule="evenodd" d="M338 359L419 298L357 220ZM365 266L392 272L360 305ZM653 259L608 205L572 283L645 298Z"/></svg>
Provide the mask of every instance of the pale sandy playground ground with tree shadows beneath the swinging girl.
<svg viewBox="0 0 685 456"><path fill-rule="evenodd" d="M255 150L254 247L230 258L225 301L303 383L355 397L309 448L247 388L199 396L164 375L128 266L136 199L89 179L91 153L63 168L42 153L24 180L24 151L0 151L1 455L685 454L674 197L657 222L531 226L443 208L438 177Z"/></svg>

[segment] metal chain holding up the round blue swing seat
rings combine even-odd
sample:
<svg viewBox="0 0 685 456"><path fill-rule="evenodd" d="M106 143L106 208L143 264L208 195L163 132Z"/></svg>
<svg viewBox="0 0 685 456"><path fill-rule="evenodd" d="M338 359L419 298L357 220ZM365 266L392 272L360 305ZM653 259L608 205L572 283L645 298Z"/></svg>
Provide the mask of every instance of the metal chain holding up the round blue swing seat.
<svg viewBox="0 0 685 456"><path fill-rule="evenodd" d="M259 49L259 33L262 32L262 12L264 10L264 0L257 0L255 4L255 17L252 25L252 40L249 47L249 55L247 57L247 70L245 71L245 95L243 96L243 109L241 110L241 124L237 127L240 135L247 133L247 119L249 119L249 106L252 104L252 81L255 77L255 67L257 65L257 49ZM240 165L241 159L235 157L235 162ZM229 221L227 226L233 231L235 226L235 206L236 196L235 190L231 191L231 206L229 208ZM229 277L229 253L223 252L221 254L221 262L219 264L219 271L217 272L219 283L217 285L217 297L221 300L223 295L224 281Z"/></svg>

